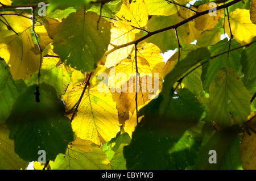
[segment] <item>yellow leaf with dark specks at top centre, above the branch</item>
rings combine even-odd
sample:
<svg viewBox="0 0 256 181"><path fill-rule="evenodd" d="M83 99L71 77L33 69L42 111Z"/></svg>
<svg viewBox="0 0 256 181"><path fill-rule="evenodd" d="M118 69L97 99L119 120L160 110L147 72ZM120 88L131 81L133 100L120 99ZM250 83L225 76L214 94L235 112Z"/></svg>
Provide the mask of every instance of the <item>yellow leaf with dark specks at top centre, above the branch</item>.
<svg viewBox="0 0 256 181"><path fill-rule="evenodd" d="M148 11L143 0L123 0L121 9L115 15L118 19L128 22L131 26L142 28L147 24Z"/></svg>

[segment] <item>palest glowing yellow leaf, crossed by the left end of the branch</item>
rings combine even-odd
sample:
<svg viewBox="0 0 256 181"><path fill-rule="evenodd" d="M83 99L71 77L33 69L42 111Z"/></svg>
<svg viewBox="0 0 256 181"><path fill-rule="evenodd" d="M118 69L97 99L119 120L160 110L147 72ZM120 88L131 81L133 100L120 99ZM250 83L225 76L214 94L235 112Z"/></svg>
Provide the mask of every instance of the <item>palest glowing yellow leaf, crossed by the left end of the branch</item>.
<svg viewBox="0 0 256 181"><path fill-rule="evenodd" d="M108 47L108 50L114 48L112 45L122 45L133 41L135 39L134 30L126 22L114 21L111 28L111 40ZM112 66L117 65L121 60L129 56L131 50L133 49L133 45L115 50L114 52L108 54L106 57L105 66L110 68Z"/></svg>

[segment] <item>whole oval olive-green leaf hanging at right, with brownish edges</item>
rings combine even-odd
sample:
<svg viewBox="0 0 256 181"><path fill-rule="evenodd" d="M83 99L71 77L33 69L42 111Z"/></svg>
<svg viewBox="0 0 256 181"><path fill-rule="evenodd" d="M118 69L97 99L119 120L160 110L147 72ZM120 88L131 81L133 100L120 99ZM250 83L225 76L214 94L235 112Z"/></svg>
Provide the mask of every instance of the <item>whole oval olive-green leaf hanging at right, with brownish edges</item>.
<svg viewBox="0 0 256 181"><path fill-rule="evenodd" d="M232 68L220 69L209 87L211 119L221 127L242 124L250 115L250 97Z"/></svg>

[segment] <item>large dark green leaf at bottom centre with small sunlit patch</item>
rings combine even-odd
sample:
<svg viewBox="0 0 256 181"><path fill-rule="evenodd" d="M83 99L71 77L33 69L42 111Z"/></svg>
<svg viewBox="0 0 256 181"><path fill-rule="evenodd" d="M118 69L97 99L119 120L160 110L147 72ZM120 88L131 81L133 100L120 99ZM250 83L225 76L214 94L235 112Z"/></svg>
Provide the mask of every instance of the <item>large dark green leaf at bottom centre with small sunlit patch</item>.
<svg viewBox="0 0 256 181"><path fill-rule="evenodd" d="M195 162L202 139L200 127L192 127L203 107L187 89L172 99L164 116L159 115L162 101L159 95L140 112L144 117L123 151L127 169L189 169Z"/></svg>

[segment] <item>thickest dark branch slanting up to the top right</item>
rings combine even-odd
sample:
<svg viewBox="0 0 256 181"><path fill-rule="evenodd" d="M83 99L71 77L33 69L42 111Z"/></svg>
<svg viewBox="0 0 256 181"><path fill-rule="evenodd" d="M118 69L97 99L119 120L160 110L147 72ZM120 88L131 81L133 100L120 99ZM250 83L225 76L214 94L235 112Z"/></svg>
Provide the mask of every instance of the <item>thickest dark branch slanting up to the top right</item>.
<svg viewBox="0 0 256 181"><path fill-rule="evenodd" d="M234 5L235 3L240 2L240 1L242 1L242 0L234 0L234 1L232 1L232 2L226 3L225 5L217 6L217 7L216 7L216 11L217 11L217 10L224 9L225 7L229 7L229 6L231 6L231 5ZM183 20L183 21L181 21L181 22L179 22L179 23L177 23L177 24L174 24L174 25L169 26L169 27L166 27L166 28L162 28L162 29L160 29L160 30L156 30L156 31L149 32L147 35L142 36L141 38L139 38L139 39L137 39L137 40L130 41L129 43L126 43L126 44L118 45L117 47L114 47L114 48L110 49L110 50L109 50L108 52L106 52L105 54L108 55L108 54L114 52L114 50L117 50L117 49L120 49L120 48L123 48L123 47L127 47L127 46L133 45L133 44L135 44L135 43L138 44L139 42L141 42L141 41L147 39L148 37L150 37L150 36L152 36L152 35L155 35L155 34L158 34L158 33L164 32L164 31L168 31L168 30L171 30L171 29L180 27L180 26L182 26L183 24L188 23L188 22L190 22L191 20L198 18L199 16L208 14L208 12L209 12L209 10L201 11L201 12L199 12L199 13L197 13L197 14L195 14L195 15L193 15L193 16L191 16L191 17L189 17L189 18L187 18L187 19L185 19L185 20Z"/></svg>

